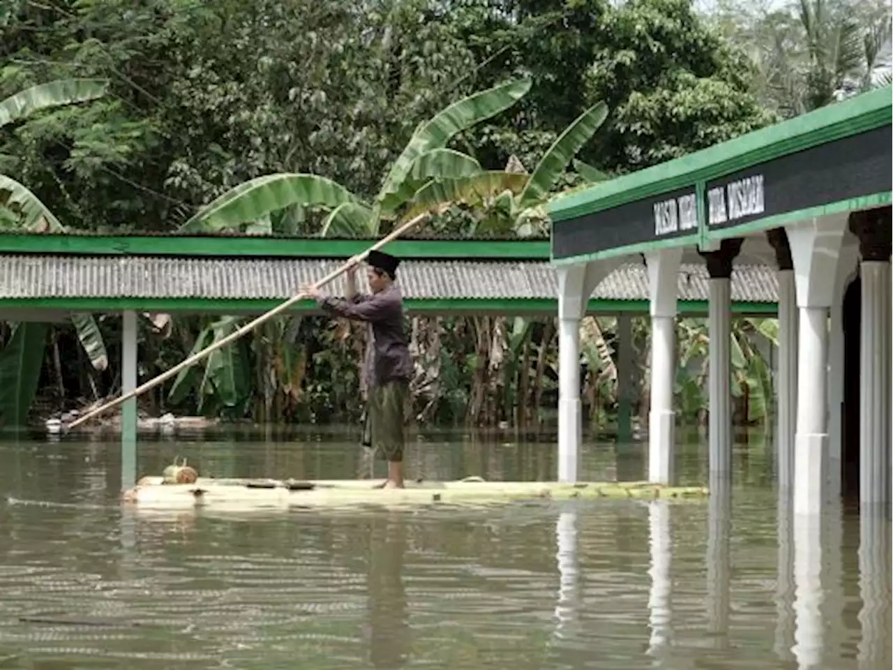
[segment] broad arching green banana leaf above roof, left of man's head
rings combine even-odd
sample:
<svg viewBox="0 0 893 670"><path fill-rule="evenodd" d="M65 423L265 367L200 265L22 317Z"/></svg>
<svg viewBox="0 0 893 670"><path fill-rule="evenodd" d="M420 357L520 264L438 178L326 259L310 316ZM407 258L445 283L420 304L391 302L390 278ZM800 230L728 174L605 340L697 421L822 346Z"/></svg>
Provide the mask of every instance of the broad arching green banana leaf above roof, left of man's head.
<svg viewBox="0 0 893 670"><path fill-rule="evenodd" d="M290 205L334 209L344 203L363 205L346 188L325 177L292 172L267 174L239 184L217 197L185 222L180 230L232 229Z"/></svg>

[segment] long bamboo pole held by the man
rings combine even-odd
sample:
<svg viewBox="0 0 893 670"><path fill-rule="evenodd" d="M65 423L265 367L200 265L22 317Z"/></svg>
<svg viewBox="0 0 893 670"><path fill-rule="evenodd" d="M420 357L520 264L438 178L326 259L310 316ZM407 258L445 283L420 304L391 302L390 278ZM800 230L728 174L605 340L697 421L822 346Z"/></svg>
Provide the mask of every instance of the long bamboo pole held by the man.
<svg viewBox="0 0 893 670"><path fill-rule="evenodd" d="M378 242L376 242L371 247L369 247L368 249L363 251L362 254L353 256L345 264L338 267L337 270L333 270L332 272L327 274L325 277L323 277L320 281L317 281L315 284L313 284L313 288L321 289L321 287L325 286L330 281L336 279L339 275L343 274L344 272L347 272L354 265L362 263L363 260L365 260L366 256L368 256L371 251L376 251L376 250L380 249L381 247L384 247L386 244L388 244L388 242L392 242L393 240L397 239L398 237L403 235L408 230L413 229L419 223L421 223L426 218L428 218L429 214L430 213L428 213L428 212L423 212L423 213L419 214L418 216L415 216L412 219L410 219L409 221L405 222L404 224L396 227L394 230L392 230L390 233L388 233L388 235L381 238ZM143 393L146 393L147 390L154 389L156 386L158 386L163 381L171 379L171 377L173 377L175 374L178 374L181 370L185 370L190 365L196 364L199 361L203 360L204 358L211 356L211 354L213 354L213 352L216 351L217 349L226 347L228 344L236 341L237 339L239 339L246 333L253 331L261 323L263 323L265 321L269 321L272 317L274 317L278 314L282 314L289 307L291 307L291 306L295 305L297 302L305 299L305 297L306 296L304 293L298 293L296 296L288 298L288 300L286 300L280 306L273 307L266 314L261 314L254 321L246 323L244 326L239 328L238 331L230 333L230 335L227 335L225 338L223 338L217 342L214 342L211 346L202 349L201 351L197 352L196 354L193 354L192 356L189 356L186 360L182 361L179 364L174 365L167 372L161 373L157 377L154 377L154 379L146 381L145 384L143 384L142 386L138 386L136 389L133 389L129 393L122 395L121 398L115 398L111 402L105 403L103 406L96 407L96 409L94 409L92 412L88 412L86 415L80 416L75 421L72 421L71 423L67 424L65 426L65 430L70 431L72 428L77 428L81 423L87 423L90 419L92 419L98 415L104 414L105 412L108 412L110 409L113 409L113 408L121 405L121 403L128 401L130 398L136 398L137 396L140 396Z"/></svg>

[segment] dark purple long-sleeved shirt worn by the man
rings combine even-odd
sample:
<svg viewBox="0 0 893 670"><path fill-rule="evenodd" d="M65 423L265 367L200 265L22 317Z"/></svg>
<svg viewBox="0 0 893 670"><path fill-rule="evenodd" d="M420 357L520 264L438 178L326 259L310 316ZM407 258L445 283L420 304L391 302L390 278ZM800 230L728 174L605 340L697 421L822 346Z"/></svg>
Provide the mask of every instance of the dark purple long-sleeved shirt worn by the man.
<svg viewBox="0 0 893 670"><path fill-rule="evenodd" d="M363 376L369 388L412 379L413 358L403 327L403 296L394 284L371 295L357 294L349 300L321 297L316 303L329 314L367 323Z"/></svg>

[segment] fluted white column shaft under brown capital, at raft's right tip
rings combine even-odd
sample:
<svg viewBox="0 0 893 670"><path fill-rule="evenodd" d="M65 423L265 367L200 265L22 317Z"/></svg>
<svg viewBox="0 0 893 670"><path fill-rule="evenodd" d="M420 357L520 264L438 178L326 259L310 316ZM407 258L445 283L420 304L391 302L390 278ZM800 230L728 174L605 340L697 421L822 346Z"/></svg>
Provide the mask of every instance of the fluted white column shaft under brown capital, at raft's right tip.
<svg viewBox="0 0 893 670"><path fill-rule="evenodd" d="M731 470L731 282L711 279L708 330L709 350L709 469Z"/></svg>

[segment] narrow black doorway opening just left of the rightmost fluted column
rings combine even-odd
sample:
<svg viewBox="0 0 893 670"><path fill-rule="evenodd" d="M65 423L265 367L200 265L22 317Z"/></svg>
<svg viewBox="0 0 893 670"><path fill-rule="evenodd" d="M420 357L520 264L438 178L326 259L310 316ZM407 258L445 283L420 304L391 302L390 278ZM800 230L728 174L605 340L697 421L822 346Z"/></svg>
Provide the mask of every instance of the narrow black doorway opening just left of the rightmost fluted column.
<svg viewBox="0 0 893 670"><path fill-rule="evenodd" d="M843 294L843 379L840 426L840 490L844 498L859 497L859 340L862 327L862 279L856 277Z"/></svg>

